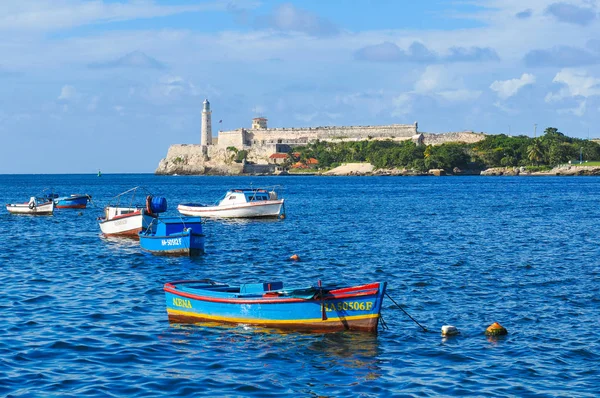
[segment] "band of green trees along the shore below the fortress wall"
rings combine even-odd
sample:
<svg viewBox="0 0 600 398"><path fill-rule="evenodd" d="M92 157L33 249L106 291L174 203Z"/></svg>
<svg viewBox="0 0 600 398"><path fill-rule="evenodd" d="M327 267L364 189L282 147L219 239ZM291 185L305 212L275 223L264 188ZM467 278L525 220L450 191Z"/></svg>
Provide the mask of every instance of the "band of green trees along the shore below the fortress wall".
<svg viewBox="0 0 600 398"><path fill-rule="evenodd" d="M315 158L319 167L336 167L341 163L369 162L378 169L409 168L453 170L485 169L489 167L538 166L554 167L579 160L600 160L600 145L589 140L571 138L548 127L537 138L489 135L474 144L446 143L416 145L407 140L325 142L316 141L294 148L300 160Z"/></svg>

